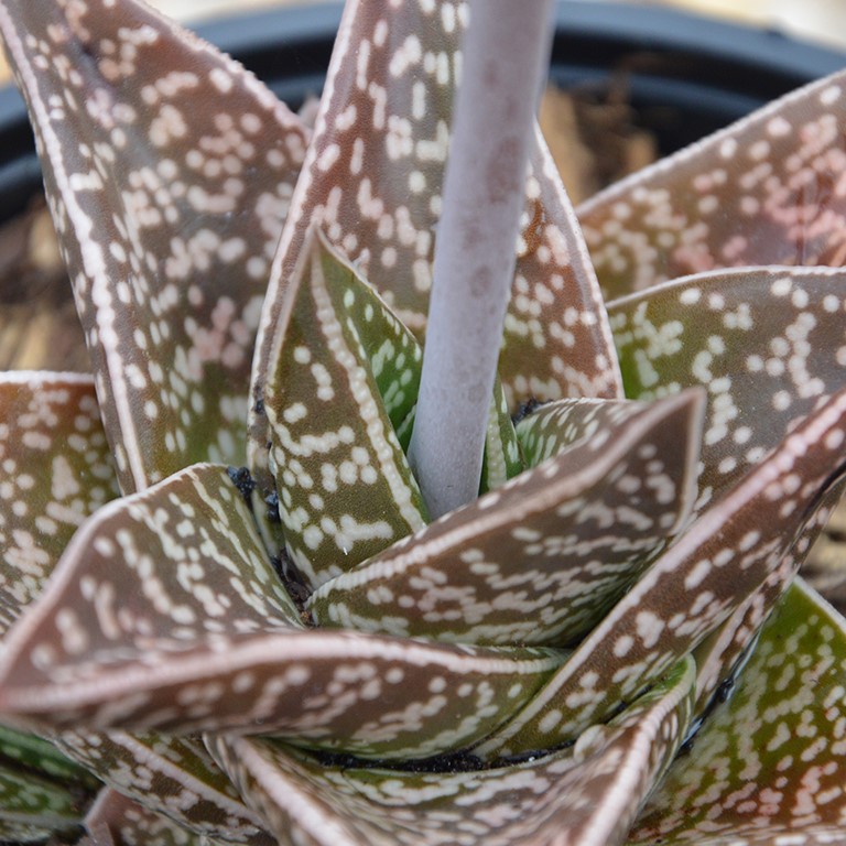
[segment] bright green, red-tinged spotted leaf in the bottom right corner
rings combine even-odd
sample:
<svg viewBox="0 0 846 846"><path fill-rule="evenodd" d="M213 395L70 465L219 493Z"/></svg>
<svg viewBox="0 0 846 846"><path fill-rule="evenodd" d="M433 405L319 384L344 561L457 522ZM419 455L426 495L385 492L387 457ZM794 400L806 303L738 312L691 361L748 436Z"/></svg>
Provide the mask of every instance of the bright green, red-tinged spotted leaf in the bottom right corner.
<svg viewBox="0 0 846 846"><path fill-rule="evenodd" d="M842 843L845 677L846 623L798 579L630 843Z"/></svg>

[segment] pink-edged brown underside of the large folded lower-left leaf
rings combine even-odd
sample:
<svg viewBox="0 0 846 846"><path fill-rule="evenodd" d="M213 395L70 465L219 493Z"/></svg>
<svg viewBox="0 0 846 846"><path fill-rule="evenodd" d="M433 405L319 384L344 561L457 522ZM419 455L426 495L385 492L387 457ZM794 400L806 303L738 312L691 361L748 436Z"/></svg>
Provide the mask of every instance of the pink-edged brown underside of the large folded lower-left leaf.
<svg viewBox="0 0 846 846"><path fill-rule="evenodd" d="M235 729L361 757L426 758L489 735L564 659L554 650L294 630L230 638L217 654L186 650L152 668L143 653L127 653L94 677L69 663L53 681L31 669L28 679L7 676L0 708L58 727Z"/></svg>

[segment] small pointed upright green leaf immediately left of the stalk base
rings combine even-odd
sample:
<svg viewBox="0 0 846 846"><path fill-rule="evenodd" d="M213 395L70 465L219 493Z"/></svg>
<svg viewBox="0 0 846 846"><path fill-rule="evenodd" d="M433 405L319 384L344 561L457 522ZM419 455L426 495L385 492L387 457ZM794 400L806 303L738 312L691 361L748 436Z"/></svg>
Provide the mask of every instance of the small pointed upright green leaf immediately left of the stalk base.
<svg viewBox="0 0 846 846"><path fill-rule="evenodd" d="M426 524L394 431L421 350L316 234L288 294L264 406L285 545L316 587Z"/></svg>

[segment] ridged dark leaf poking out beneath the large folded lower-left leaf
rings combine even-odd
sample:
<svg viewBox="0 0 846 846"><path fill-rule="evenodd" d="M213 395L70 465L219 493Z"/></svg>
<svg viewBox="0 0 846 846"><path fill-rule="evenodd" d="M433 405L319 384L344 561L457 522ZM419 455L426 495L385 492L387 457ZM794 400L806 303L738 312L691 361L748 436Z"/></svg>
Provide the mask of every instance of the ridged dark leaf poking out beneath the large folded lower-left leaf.
<svg viewBox="0 0 846 846"><path fill-rule="evenodd" d="M110 788L147 809L151 835L187 829L182 832L183 843L191 842L191 833L202 843L203 838L237 846L273 843L198 739L77 730L55 740ZM159 821L160 815L165 820ZM139 846L147 846L147 840Z"/></svg>

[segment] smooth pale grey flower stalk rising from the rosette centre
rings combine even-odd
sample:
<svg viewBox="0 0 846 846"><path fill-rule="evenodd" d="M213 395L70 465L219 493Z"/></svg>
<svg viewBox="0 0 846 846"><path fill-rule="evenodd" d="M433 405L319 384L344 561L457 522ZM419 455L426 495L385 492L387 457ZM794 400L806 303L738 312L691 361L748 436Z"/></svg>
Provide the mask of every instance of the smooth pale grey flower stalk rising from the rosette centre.
<svg viewBox="0 0 846 846"><path fill-rule="evenodd" d="M473 0L409 449L433 519L478 495L552 0Z"/></svg>

